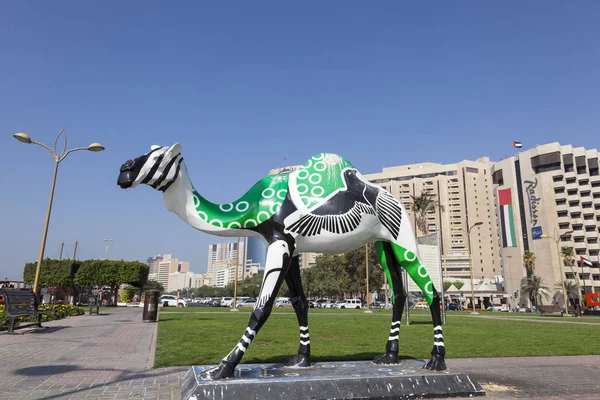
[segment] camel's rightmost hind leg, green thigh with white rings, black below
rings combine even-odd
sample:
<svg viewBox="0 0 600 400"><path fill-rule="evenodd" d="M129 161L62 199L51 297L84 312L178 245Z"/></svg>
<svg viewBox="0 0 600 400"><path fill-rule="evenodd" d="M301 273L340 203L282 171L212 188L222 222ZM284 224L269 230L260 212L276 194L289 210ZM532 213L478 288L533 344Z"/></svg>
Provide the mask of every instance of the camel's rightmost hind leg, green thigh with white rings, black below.
<svg viewBox="0 0 600 400"><path fill-rule="evenodd" d="M396 256L396 260L408 272L410 277L419 286L425 299L429 303L431 310L431 319L433 322L433 350L431 350L431 358L423 366L425 369L441 371L446 369L446 349L444 347L444 336L442 335L442 315L440 310L440 296L433 286L433 282L429 278L429 274L425 266L419 260L419 257L410 250L392 243L392 250ZM415 244L416 247L416 244Z"/></svg>

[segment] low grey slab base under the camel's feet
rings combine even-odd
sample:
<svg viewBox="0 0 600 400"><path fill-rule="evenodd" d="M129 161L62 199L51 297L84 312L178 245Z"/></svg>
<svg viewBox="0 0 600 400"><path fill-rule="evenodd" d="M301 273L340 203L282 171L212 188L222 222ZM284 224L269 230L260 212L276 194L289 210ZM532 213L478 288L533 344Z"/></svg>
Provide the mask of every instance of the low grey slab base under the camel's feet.
<svg viewBox="0 0 600 400"><path fill-rule="evenodd" d="M200 379L214 365L193 366L181 382L183 400L225 399L415 399L484 396L483 388L458 371L428 371L418 360L395 365L371 361L317 362L309 368L240 364L235 377Z"/></svg>

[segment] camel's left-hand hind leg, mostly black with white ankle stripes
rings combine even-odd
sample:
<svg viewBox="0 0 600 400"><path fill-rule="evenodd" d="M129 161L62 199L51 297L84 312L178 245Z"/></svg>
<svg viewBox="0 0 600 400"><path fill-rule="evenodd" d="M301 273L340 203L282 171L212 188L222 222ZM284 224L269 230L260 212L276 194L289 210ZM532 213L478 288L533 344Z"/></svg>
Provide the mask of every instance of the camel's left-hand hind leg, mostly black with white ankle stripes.
<svg viewBox="0 0 600 400"><path fill-rule="evenodd" d="M400 335L400 321L402 320L406 294L404 293L402 277L400 276L400 265L394 257L390 244L387 242L375 242L375 250L377 251L379 264L385 271L388 283L390 284L394 306L392 311L392 326L385 346L385 353L375 357L373 362L375 364L397 364L399 362L398 337ZM385 301L387 302L387 299Z"/></svg>

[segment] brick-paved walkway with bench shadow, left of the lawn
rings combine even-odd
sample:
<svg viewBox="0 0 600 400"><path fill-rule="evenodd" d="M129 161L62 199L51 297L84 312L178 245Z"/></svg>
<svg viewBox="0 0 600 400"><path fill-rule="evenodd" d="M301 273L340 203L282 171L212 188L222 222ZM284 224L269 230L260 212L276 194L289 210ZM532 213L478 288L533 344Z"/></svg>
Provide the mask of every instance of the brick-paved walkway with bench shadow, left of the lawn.
<svg viewBox="0 0 600 400"><path fill-rule="evenodd" d="M116 308L0 335L2 399L179 399L179 372L151 369L155 323Z"/></svg>

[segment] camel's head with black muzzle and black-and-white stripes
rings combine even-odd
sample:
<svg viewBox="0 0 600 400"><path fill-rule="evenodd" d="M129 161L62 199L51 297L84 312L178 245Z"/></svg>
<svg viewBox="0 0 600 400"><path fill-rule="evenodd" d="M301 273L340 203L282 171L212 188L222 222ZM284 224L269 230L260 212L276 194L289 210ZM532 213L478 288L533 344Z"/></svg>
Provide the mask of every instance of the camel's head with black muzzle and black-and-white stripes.
<svg viewBox="0 0 600 400"><path fill-rule="evenodd" d="M121 165L117 184L122 189L146 184L164 192L177 179L182 160L179 143L171 147L152 146L148 153Z"/></svg>

